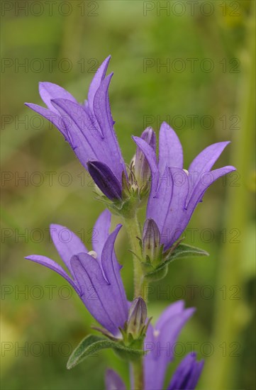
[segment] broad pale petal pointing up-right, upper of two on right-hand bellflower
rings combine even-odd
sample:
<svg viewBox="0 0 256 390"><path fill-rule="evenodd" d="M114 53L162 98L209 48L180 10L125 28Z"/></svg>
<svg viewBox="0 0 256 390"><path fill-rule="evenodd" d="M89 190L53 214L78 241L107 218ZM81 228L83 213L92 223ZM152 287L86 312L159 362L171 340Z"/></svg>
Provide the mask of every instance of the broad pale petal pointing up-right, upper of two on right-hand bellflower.
<svg viewBox="0 0 256 390"><path fill-rule="evenodd" d="M220 157L221 153L229 143L230 141L213 143L213 145L210 145L202 150L202 152L199 153L199 155L197 155L191 162L191 165L189 166L189 182L192 185L190 185L187 204L191 199L194 189L200 182L201 174L211 170L215 162L218 160L218 157Z"/></svg>

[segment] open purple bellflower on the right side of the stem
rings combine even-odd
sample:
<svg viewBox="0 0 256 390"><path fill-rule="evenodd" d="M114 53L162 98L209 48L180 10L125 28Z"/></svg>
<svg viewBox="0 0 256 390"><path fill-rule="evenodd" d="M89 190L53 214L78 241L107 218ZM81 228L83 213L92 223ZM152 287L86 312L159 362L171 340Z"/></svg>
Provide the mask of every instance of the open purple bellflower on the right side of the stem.
<svg viewBox="0 0 256 390"><path fill-rule="evenodd" d="M133 137L144 153L151 170L151 189L147 218L157 224L164 250L182 235L208 187L224 174L235 170L230 165L211 168L229 142L206 147L183 169L183 151L177 134L167 123L162 123L159 135L159 157L155 148L143 138Z"/></svg>

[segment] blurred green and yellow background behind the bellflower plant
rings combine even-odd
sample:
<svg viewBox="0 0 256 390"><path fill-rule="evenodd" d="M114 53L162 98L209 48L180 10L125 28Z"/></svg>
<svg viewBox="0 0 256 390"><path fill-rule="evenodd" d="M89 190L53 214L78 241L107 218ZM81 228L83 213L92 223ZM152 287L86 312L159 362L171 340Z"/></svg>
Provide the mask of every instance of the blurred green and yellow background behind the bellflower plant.
<svg viewBox="0 0 256 390"><path fill-rule="evenodd" d="M50 223L67 225L90 249L103 210L62 135L23 103L40 104L40 81L83 101L109 54L111 107L126 162L135 152L131 135L149 125L158 131L161 121L177 130L186 167L207 145L232 141L216 167L238 172L208 190L185 238L210 257L172 263L150 289L149 311L157 318L181 298L196 307L167 381L192 342L206 359L199 389L255 389L253 3L1 1L2 389L103 389L106 367L128 384L126 362L107 350L67 371L71 349L95 322L61 277L23 260L32 253L58 260ZM116 251L131 299L124 230Z"/></svg>

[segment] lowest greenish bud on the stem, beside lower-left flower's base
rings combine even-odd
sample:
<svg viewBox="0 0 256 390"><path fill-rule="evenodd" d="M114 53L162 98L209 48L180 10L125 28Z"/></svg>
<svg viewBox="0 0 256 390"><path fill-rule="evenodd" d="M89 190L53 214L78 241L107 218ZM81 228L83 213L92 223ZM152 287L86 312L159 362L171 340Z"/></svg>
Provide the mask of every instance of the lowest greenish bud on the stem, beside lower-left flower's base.
<svg viewBox="0 0 256 390"><path fill-rule="evenodd" d="M145 329L145 321L147 319L147 306L145 301L139 297L133 300L128 321L127 321L127 333L133 335L133 338L139 338Z"/></svg>

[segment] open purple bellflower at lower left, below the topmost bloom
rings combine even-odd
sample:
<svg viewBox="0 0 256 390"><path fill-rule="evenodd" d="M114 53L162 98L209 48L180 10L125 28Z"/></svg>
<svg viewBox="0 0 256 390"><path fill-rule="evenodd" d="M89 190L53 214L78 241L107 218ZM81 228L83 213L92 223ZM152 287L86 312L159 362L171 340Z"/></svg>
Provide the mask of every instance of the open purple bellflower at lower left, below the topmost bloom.
<svg viewBox="0 0 256 390"><path fill-rule="evenodd" d="M121 266L114 251L121 225L117 225L109 234L110 225L111 213L106 210L94 225L96 240L91 252L71 230L61 225L50 225L52 241L70 275L48 257L30 255L26 259L53 269L64 277L104 330L121 338L119 328L123 328L128 320L128 301L121 280ZM103 333L106 333L104 330Z"/></svg>

